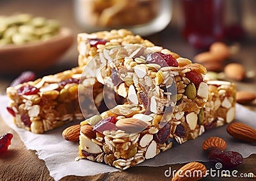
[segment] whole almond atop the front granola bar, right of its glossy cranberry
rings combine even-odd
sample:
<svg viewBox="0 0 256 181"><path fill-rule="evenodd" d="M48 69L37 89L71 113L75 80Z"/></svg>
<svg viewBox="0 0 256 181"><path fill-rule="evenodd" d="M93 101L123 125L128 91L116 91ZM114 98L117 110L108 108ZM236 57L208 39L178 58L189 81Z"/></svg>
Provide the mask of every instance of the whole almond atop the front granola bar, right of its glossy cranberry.
<svg viewBox="0 0 256 181"><path fill-rule="evenodd" d="M116 122L116 127L125 132L141 132L148 127L148 123L136 118L124 118Z"/></svg>

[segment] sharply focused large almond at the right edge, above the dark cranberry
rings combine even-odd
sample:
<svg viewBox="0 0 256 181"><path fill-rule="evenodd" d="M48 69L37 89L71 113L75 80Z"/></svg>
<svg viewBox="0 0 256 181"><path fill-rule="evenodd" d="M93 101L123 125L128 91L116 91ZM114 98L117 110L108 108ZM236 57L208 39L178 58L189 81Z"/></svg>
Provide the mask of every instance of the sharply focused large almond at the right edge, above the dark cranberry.
<svg viewBox="0 0 256 181"><path fill-rule="evenodd" d="M256 142L256 130L244 123L231 123L227 132L234 138L247 142Z"/></svg>

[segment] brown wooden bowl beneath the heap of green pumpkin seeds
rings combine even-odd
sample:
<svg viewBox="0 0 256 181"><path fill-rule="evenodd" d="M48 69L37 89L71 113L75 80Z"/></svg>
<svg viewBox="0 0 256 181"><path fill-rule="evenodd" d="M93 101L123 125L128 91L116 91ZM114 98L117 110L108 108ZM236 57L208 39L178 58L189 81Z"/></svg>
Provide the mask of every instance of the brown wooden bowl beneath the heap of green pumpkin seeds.
<svg viewBox="0 0 256 181"><path fill-rule="evenodd" d="M20 74L24 70L39 72L51 67L74 42L68 28L45 42L0 47L0 74Z"/></svg>

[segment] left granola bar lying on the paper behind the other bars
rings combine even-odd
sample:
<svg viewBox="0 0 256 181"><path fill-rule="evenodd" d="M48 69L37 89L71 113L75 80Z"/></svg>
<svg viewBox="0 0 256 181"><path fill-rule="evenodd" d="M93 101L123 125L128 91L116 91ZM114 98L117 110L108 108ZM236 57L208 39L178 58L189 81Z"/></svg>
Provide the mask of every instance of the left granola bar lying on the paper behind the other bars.
<svg viewBox="0 0 256 181"><path fill-rule="evenodd" d="M34 133L42 133L72 120L83 120L78 101L82 72L83 67L76 67L7 88L6 93L11 99L7 109L12 113L15 125ZM94 102L90 99L88 101L99 106L103 86L94 82L93 86ZM87 111L90 112L90 107Z"/></svg>

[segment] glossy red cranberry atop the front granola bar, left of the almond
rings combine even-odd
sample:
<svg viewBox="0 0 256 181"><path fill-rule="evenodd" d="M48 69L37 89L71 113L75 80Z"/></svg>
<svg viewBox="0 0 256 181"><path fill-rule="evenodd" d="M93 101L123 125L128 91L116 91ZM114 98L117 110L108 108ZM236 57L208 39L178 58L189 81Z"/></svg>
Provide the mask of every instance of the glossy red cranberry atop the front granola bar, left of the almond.
<svg viewBox="0 0 256 181"><path fill-rule="evenodd" d="M104 130L114 130L116 128L115 123L117 122L116 117L110 116L108 118L105 118L101 120L99 123L97 123L93 130L97 130L98 132L103 132Z"/></svg>

